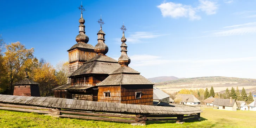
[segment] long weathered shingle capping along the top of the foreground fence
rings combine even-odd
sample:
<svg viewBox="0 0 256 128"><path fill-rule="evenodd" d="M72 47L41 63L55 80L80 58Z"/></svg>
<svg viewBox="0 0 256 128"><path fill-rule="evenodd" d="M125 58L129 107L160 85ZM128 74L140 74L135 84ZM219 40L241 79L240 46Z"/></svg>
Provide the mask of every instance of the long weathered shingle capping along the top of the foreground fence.
<svg viewBox="0 0 256 128"><path fill-rule="evenodd" d="M52 97L28 97L0 95L0 103L18 103L49 108L76 109L83 111L107 111L108 113L129 114L197 114L203 112L197 107L162 107L152 105L120 104L95 101L73 100Z"/></svg>

